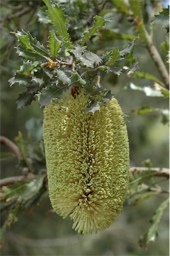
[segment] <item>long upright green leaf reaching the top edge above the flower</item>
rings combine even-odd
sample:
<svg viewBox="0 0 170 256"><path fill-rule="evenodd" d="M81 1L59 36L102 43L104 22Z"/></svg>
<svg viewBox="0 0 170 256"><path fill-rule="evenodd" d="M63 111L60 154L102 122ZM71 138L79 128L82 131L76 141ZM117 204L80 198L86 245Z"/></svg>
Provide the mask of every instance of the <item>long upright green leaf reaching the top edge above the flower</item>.
<svg viewBox="0 0 170 256"><path fill-rule="evenodd" d="M43 0L43 1L48 7L48 16L52 21L52 23L54 24L54 26L56 27L56 31L58 32L58 35L60 35L60 37L64 39L64 42L68 47L71 47L72 43L70 41L70 36L67 32L66 21L64 19L64 13L61 7L57 7L57 6L53 7L50 4L50 0Z"/></svg>

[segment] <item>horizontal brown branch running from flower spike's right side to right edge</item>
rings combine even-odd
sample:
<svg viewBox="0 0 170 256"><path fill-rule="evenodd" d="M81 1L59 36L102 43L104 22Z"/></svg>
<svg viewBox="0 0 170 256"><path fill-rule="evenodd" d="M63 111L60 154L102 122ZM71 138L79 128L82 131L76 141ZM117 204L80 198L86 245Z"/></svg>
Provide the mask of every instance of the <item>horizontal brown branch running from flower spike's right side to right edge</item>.
<svg viewBox="0 0 170 256"><path fill-rule="evenodd" d="M169 179L169 169L159 167L131 167L130 173L133 175L136 171L156 171L155 176L166 177Z"/></svg>

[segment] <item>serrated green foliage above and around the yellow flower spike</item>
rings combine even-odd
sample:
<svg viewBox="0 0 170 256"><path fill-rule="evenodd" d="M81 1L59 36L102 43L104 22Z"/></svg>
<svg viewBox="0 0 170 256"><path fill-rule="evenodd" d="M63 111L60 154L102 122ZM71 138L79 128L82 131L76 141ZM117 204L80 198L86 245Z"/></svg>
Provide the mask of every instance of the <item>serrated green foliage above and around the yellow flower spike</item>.
<svg viewBox="0 0 170 256"><path fill-rule="evenodd" d="M8 31L13 31L12 35L17 39L15 49L20 57L20 67L16 65L15 75L9 79L9 83L11 87L18 84L21 88L17 95L19 109L35 100L39 102L40 107L44 107L52 99L60 98L67 93L70 87L76 86L84 88L85 93L91 96L102 95L96 97L96 101L92 97L85 110L94 114L95 111L100 111L101 102L106 104L112 99L112 90L103 83L103 77L106 75L116 77L116 81L118 77L126 77L128 85L124 89L129 91L141 91L145 97L165 101L169 99L169 88L162 77L156 72L152 74L139 69L138 59L134 54L139 45L142 44L146 49L150 45L146 35L142 1L129 0L128 6L123 0L34 1L39 24L42 29L46 28L44 39L39 39L38 32L36 34L27 31L27 25L23 25L23 20L21 24L16 21L17 15L22 16L22 13L17 13L19 4L23 7L23 15L35 15L32 2L8 3L12 5L13 13L9 13L9 16L14 25L11 27L7 24L9 17L5 20L5 25L3 24L3 29L5 27ZM116 21L112 19L115 14L120 15ZM127 21L126 28L121 25L122 19ZM169 8L155 15L151 25L161 25L169 32ZM116 41L116 46L114 43L108 46L108 42L112 41ZM1 47L1 52L4 49L9 49L9 45ZM165 63L168 50L169 43L166 39L161 43ZM6 50L5 56L7 54ZM99 98L100 100L97 100ZM153 107L147 104L139 109L132 109L131 113L141 116L157 113L164 124L169 123L169 110L166 107ZM1 243L7 228L19 219L23 211L35 207L46 191L42 122L40 119L30 119L26 123L26 128L27 136L19 132L15 138L23 157L18 166L23 177L21 180L1 186L1 211L7 213L1 228ZM13 154L9 152L1 153L3 159L11 156ZM130 177L126 204L138 205L150 197L163 193L155 181L156 175L157 171L151 170L133 173ZM149 230L139 240L141 247L147 247L150 241L157 239L157 228L167 204L168 199L165 199L155 210Z"/></svg>

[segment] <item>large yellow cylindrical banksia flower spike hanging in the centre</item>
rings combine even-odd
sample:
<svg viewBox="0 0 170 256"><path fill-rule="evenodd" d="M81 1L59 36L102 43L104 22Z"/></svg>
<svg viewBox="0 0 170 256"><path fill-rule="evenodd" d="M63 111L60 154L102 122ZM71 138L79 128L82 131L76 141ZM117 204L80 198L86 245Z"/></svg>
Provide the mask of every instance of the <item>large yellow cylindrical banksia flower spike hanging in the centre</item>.
<svg viewBox="0 0 170 256"><path fill-rule="evenodd" d="M44 109L48 190L59 215L70 215L78 233L110 226L122 211L129 179L128 135L113 97L100 111L85 113L89 97L80 91Z"/></svg>

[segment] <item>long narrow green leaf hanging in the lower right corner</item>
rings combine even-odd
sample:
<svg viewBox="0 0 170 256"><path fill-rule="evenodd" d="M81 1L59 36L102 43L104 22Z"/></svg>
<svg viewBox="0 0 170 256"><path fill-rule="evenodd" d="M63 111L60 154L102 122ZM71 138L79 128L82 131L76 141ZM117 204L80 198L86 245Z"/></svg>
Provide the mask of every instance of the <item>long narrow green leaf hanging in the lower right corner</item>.
<svg viewBox="0 0 170 256"><path fill-rule="evenodd" d="M141 247L147 247L149 242L151 241L154 242L157 239L158 237L157 228L161 220L161 217L163 216L163 213L167 208L168 204L169 204L169 197L163 203L161 203L159 208L155 211L150 221L151 227L149 227L149 230L141 237L141 239L139 239L139 245Z"/></svg>

